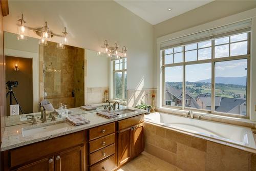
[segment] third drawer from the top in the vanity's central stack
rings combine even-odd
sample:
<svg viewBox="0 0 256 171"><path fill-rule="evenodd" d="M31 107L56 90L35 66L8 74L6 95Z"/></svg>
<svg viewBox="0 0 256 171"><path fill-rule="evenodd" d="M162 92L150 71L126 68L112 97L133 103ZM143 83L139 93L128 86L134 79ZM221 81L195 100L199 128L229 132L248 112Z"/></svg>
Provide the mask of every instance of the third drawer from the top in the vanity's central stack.
<svg viewBox="0 0 256 171"><path fill-rule="evenodd" d="M115 154L115 147L116 145L112 144L110 146L100 149L97 152L90 154L90 165L93 165L98 161Z"/></svg>

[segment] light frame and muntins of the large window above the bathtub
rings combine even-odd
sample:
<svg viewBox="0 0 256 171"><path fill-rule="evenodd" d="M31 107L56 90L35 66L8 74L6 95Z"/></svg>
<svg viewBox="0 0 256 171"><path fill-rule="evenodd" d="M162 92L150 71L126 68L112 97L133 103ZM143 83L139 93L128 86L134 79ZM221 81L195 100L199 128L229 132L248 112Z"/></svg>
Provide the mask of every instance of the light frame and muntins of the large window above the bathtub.
<svg viewBox="0 0 256 171"><path fill-rule="evenodd" d="M174 63L174 55L173 55L173 63L169 63L169 64L165 64L164 59L165 59L165 54L164 54L164 50L161 50L161 54L162 54L162 106L164 108L174 108L174 109L181 109L181 110L191 110L191 111L198 111L198 112L206 112L206 113L212 113L212 114L217 114L217 115L225 115L225 116L234 116L234 117L240 117L240 118L249 118L249 110L250 110L250 41L251 41L251 36L250 36L250 32L247 31L247 54L246 55L238 55L238 56L230 56L230 45L233 42L230 42L230 36L232 35L237 35L237 34L242 34L244 32L239 32L236 34L225 34L225 36L219 36L218 38L222 38L222 37L229 37L229 42L226 44L221 44L221 45L228 45L229 46L229 56L228 57L220 57L220 58L215 58L215 39L208 39L211 40L211 58L210 59L204 59L204 60L198 60L198 50L199 49L204 49L204 48L198 48L198 43L202 42L202 41L196 41L193 42L193 44L197 44L197 60L194 61L185 61L185 46L189 45L189 44L184 44L182 45L182 53L183 53L183 62L179 62L179 63ZM203 40L203 41L208 41ZM241 41L246 41L246 40L241 40ZM234 43L237 42L241 42L241 41L236 41ZM220 45L217 45L220 46ZM180 47L180 46L179 46ZM209 48L206 47L206 48ZM172 47L172 48L176 48L176 47ZM170 48L168 48L170 49ZM167 50L167 49L166 49ZM190 51L190 50L188 50ZM174 52L173 52L174 54ZM231 60L239 60L239 59L247 59L247 84L246 84L246 115L242 116L239 114L230 114L230 113L224 113L224 112L217 112L215 111L215 63L216 62L221 62L221 61L231 61ZM186 107L186 84L185 84L185 69L186 66L188 65L193 65L193 64L202 64L202 63L211 63L211 110L202 110L202 109L194 109L194 108L187 108ZM182 66L183 67L183 82L182 82L182 92L183 94L185 94L185 96L182 96L182 106L169 106L166 105L165 103L165 96L164 96L164 90L165 90L165 68L167 67L175 67L175 66Z"/></svg>

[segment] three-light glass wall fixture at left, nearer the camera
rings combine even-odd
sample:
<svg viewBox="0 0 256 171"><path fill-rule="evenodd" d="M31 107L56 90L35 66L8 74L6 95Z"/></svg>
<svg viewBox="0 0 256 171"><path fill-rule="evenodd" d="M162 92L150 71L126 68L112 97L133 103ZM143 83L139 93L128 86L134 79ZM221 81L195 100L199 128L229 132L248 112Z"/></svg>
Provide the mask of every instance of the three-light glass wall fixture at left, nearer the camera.
<svg viewBox="0 0 256 171"><path fill-rule="evenodd" d="M53 32L51 32L50 28L47 25L47 22L45 22L45 25L42 26L41 28L31 28L25 25L26 22L23 19L23 14L22 14L22 18L18 19L18 23L17 23L17 40L27 40L27 36L29 36L29 30L34 31L38 36L40 36L40 40L39 40L39 45L44 45L47 46L48 43L47 41L53 37L53 36L57 36L57 37L61 37L61 42L57 43L57 48L59 49L64 49L65 46L68 43L68 32L66 27L64 28L64 31L62 32L61 35L59 34L55 34Z"/></svg>

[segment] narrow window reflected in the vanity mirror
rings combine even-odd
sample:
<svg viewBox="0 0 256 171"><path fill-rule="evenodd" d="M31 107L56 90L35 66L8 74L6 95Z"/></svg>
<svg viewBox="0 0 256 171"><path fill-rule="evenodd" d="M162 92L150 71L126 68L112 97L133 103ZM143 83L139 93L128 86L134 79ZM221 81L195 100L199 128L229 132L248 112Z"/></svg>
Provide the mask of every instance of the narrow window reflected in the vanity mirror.
<svg viewBox="0 0 256 171"><path fill-rule="evenodd" d="M126 58L114 60L114 99L125 100L126 95Z"/></svg>

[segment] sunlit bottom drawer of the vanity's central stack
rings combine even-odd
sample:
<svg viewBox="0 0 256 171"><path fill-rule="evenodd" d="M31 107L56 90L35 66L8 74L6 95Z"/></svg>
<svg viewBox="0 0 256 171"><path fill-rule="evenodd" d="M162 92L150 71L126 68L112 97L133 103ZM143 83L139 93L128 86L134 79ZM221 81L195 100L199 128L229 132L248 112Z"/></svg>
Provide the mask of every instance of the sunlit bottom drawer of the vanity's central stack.
<svg viewBox="0 0 256 171"><path fill-rule="evenodd" d="M99 171L99 170L106 170L106 171L111 171L114 170L116 167L116 158L115 155L112 155L111 157L109 157L108 159L95 164L94 166L90 167L90 171Z"/></svg>

